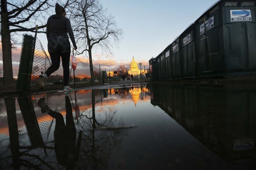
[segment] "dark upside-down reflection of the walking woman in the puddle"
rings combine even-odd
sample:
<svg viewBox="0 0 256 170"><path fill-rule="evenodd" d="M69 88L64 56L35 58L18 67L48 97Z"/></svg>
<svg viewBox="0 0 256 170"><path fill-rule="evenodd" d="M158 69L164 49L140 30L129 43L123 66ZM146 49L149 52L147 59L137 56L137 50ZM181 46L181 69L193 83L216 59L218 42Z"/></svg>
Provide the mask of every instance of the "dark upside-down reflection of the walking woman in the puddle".
<svg viewBox="0 0 256 170"><path fill-rule="evenodd" d="M75 169L76 161L79 157L81 146L82 131L79 132L76 144L76 127L72 115L72 107L68 96L65 97L66 102L66 125L62 114L52 111L45 103L44 98L38 101L42 113L48 113L56 119L54 130L55 154L58 163L66 166L67 169Z"/></svg>

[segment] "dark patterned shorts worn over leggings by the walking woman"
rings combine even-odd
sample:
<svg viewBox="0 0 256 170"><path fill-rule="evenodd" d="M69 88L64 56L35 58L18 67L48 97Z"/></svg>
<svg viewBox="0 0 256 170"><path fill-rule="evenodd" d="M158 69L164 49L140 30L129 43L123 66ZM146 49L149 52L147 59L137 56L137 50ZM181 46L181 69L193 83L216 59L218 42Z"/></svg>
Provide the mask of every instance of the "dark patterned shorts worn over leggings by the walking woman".
<svg viewBox="0 0 256 170"><path fill-rule="evenodd" d="M70 53L68 36L58 35L48 38L48 52Z"/></svg>

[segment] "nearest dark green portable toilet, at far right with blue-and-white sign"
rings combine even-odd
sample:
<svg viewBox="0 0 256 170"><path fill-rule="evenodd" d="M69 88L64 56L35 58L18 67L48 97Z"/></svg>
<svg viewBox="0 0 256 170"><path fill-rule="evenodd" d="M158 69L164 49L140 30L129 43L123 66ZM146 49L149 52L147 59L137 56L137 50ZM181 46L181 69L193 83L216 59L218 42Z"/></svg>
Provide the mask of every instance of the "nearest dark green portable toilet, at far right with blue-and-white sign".
<svg viewBox="0 0 256 170"><path fill-rule="evenodd" d="M256 71L256 2L222 1L226 73Z"/></svg>

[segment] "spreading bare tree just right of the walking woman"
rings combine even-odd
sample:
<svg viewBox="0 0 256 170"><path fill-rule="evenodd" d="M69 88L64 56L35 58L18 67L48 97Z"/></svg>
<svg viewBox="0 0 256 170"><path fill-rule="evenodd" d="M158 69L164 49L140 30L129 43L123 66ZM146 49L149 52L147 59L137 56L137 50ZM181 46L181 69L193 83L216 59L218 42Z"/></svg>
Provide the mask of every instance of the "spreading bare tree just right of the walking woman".
<svg viewBox="0 0 256 170"><path fill-rule="evenodd" d="M122 29L118 29L114 18L107 15L98 0L70 0L66 11L74 27L74 35L81 53L89 56L92 83L94 72L92 65L92 48L101 47L107 53L113 42L117 45L122 37ZM81 54L80 53L80 54Z"/></svg>

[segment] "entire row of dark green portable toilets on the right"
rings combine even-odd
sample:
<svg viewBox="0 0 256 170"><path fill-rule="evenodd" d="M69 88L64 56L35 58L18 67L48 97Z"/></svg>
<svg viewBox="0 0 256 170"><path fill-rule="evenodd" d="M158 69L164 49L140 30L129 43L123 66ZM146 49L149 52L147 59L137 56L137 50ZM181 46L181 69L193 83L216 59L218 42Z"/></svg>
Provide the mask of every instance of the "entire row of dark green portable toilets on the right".
<svg viewBox="0 0 256 170"><path fill-rule="evenodd" d="M256 73L255 0L217 1L149 66L152 80Z"/></svg>

